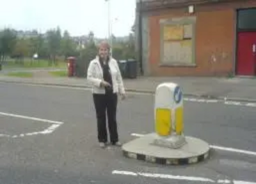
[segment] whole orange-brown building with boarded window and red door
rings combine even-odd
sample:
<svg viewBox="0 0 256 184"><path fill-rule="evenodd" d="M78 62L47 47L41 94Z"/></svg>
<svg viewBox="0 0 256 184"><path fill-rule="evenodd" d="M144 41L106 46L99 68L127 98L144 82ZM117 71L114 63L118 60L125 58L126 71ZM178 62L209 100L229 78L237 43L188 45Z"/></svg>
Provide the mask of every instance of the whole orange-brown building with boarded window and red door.
<svg viewBox="0 0 256 184"><path fill-rule="evenodd" d="M256 74L256 0L137 0L136 12L145 75Z"/></svg>

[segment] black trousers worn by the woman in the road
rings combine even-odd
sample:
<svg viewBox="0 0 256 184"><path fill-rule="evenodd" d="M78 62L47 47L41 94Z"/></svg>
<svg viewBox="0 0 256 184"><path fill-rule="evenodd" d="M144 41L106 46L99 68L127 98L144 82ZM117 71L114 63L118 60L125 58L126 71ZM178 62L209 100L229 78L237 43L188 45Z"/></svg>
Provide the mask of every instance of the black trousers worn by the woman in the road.
<svg viewBox="0 0 256 184"><path fill-rule="evenodd" d="M93 102L96 110L99 142L108 142L106 115L108 115L108 130L110 141L111 143L118 142L118 132L116 125L117 95L111 92L106 94L93 94Z"/></svg>

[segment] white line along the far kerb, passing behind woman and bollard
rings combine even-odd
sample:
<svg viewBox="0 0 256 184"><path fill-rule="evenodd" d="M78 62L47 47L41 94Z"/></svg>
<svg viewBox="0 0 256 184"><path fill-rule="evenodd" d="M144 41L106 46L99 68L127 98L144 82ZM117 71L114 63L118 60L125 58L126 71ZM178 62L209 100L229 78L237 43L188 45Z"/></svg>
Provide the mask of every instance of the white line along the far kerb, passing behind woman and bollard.
<svg viewBox="0 0 256 184"><path fill-rule="evenodd" d="M32 84L32 83L15 83L16 85L29 85L29 86L39 86L39 87L50 87L50 88L68 88L72 90L85 90L85 91L91 91L92 89L90 87L68 87L68 86L61 86L61 85L43 85L43 84ZM127 92L127 94L138 94L143 96L154 96L154 94L151 94L149 92ZM230 101L226 97L221 99L204 99L204 98L188 98L184 97L184 101L189 102L195 102L195 103L223 103L225 105L229 106L245 106L250 108L256 108L256 103L247 103L247 102L240 102L240 101Z"/></svg>

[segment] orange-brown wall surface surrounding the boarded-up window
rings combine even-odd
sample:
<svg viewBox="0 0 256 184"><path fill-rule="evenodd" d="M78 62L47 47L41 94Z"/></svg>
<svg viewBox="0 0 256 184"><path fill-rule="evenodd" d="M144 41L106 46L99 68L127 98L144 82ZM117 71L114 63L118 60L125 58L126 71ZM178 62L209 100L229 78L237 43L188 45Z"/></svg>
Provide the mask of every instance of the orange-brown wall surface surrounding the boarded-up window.
<svg viewBox="0 0 256 184"><path fill-rule="evenodd" d="M148 14L150 74L154 76L225 76L232 73L236 51L236 8L247 6L250 4L244 2L196 6L193 15L196 17L196 66L160 66L159 21L163 18L191 16L187 13L187 8L151 11Z"/></svg>

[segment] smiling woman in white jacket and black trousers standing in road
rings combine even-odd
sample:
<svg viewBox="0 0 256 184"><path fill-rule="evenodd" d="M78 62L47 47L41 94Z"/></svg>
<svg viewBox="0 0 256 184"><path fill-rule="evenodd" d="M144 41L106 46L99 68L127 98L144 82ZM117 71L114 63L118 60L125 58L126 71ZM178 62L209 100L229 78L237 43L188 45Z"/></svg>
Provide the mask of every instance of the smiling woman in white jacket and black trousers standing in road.
<svg viewBox="0 0 256 184"><path fill-rule="evenodd" d="M106 114L112 145L121 146L118 140L116 125L117 94L125 98L125 89L120 69L115 59L109 55L110 46L106 42L99 45L99 53L93 59L87 71L87 80L92 85L93 102L97 117L98 140L100 147L106 147L108 132L106 129Z"/></svg>

